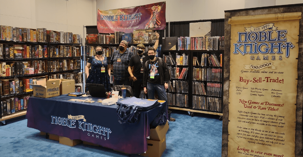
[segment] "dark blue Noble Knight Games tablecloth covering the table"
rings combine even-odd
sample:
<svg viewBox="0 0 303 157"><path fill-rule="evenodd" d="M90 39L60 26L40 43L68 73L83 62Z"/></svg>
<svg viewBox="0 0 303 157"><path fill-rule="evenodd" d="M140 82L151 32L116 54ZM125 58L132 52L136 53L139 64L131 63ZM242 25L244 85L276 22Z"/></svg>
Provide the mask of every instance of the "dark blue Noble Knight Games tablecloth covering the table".
<svg viewBox="0 0 303 157"><path fill-rule="evenodd" d="M68 101L73 98L92 98L95 103ZM137 123L120 124L116 113L118 106L102 105L97 103L98 99L67 95L51 98L32 96L29 98L26 113L27 126L129 154L140 154L147 150L146 137L149 136L149 124L160 112L168 115L164 102L159 107L141 112Z"/></svg>

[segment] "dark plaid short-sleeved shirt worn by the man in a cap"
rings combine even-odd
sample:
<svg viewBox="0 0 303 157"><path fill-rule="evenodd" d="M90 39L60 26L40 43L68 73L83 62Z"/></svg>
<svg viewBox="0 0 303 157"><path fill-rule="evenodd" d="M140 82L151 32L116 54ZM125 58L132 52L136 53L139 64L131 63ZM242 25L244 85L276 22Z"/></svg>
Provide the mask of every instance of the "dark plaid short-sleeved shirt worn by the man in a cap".
<svg viewBox="0 0 303 157"><path fill-rule="evenodd" d="M126 49L123 54L120 54L119 50L114 51L111 58L111 64L113 64L114 67L113 75L115 80L128 79L128 63L133 55L134 53L128 51L128 49ZM117 62L118 58L121 59L121 62Z"/></svg>

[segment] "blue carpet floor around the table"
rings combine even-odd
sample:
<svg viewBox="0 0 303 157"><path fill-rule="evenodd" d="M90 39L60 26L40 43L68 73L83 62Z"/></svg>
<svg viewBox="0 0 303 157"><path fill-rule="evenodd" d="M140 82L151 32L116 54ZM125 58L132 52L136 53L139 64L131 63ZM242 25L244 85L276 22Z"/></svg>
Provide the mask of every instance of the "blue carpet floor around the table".
<svg viewBox="0 0 303 157"><path fill-rule="evenodd" d="M170 122L166 134L166 150L162 157L220 157L222 121L218 116L173 111L176 119ZM58 141L45 139L40 131L27 127L21 117L6 121L0 126L0 157L124 157L129 156L112 149L78 144L65 146ZM130 155L140 157L140 155Z"/></svg>

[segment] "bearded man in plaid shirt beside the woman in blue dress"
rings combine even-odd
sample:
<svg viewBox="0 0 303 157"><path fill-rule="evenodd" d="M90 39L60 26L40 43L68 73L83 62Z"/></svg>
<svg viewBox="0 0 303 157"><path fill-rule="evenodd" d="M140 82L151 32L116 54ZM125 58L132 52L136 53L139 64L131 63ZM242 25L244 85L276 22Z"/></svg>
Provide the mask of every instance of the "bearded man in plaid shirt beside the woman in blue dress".
<svg viewBox="0 0 303 157"><path fill-rule="evenodd" d="M134 54L126 49L127 45L127 41L122 40L119 45L119 50L114 51L112 54L111 66L114 70L113 86L123 84L125 86L132 85L132 82L129 79L128 63Z"/></svg>

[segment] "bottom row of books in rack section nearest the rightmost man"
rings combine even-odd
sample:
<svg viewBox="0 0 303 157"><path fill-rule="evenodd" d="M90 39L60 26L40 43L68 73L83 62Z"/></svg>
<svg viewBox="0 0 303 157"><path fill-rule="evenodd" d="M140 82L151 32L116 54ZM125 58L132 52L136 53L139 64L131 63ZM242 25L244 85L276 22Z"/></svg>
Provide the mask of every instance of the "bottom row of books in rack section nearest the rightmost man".
<svg viewBox="0 0 303 157"><path fill-rule="evenodd" d="M188 107L188 94L166 93L167 104L170 106Z"/></svg>

